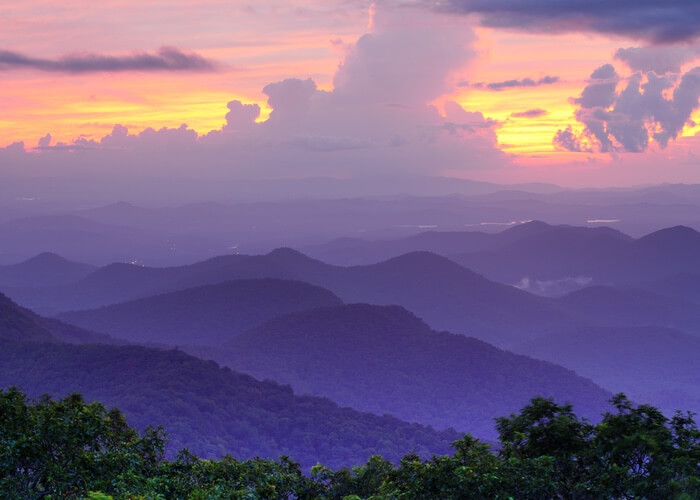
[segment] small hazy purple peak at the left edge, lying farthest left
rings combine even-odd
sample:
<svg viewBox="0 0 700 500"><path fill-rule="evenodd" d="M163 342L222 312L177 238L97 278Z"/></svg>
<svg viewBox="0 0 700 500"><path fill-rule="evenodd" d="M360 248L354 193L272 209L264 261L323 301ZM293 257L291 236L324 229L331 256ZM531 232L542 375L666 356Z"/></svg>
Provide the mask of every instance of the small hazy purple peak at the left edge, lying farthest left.
<svg viewBox="0 0 700 500"><path fill-rule="evenodd" d="M54 253L44 252L19 264L0 266L0 286L67 285L79 281L95 269L97 268L71 262Z"/></svg>

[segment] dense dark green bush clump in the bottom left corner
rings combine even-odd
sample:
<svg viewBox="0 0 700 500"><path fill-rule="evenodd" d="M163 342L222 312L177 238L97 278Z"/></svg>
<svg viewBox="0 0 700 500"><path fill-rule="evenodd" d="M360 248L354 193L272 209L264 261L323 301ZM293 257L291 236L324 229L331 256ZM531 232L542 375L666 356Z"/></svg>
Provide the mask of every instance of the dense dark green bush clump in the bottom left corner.
<svg viewBox="0 0 700 500"><path fill-rule="evenodd" d="M0 496L6 498L130 487L155 473L163 446L160 429L140 436L118 410L87 404L79 394L29 404L15 388L0 392Z"/></svg>

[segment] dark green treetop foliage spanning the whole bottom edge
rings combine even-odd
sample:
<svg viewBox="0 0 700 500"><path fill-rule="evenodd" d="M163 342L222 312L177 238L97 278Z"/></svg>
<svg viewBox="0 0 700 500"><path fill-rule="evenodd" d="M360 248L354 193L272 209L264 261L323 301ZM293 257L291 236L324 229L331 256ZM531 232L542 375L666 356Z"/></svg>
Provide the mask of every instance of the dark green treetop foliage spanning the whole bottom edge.
<svg viewBox="0 0 700 500"><path fill-rule="evenodd" d="M115 499L587 499L700 497L700 431L620 394L599 425L569 405L535 398L500 418L501 448L469 435L451 455L309 475L287 457L206 460L163 456L159 430L139 435L116 411L73 394L29 401L0 391L0 496Z"/></svg>

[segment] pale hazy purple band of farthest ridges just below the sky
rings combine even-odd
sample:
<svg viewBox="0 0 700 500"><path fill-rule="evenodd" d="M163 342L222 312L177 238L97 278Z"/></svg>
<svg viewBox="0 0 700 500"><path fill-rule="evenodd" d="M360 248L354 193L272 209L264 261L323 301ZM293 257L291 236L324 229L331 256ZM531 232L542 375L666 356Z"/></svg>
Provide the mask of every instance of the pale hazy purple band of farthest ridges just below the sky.
<svg viewBox="0 0 700 500"><path fill-rule="evenodd" d="M462 189L463 183L447 178L414 178L400 185L396 179L383 183L377 182L378 179L274 183L187 179L176 183L180 186L179 195L174 196L172 182L164 186L161 181L142 178L138 186L130 185L127 189L124 179L115 178L105 190L103 180L81 175L62 180L52 178L39 186L37 179L31 182L14 179L11 187L9 179L3 179L0 194L5 207L0 213L0 261L13 263L50 250L93 264L136 261L164 266L195 262L231 250L257 254L281 246L299 248L325 260L309 250L309 245L343 237L370 241L397 239L426 229L496 232L523 220L573 226L613 225L635 237L674 224L700 228L698 186L542 190L537 186L496 185L472 189L472 185ZM426 182L439 182L441 187L426 190ZM56 200L61 186L70 191L78 184L79 196L64 199L60 204L50 201ZM156 184L157 192L153 189ZM352 184L355 188L349 189ZM305 194L290 194L301 193L298 189L301 185L305 186L302 190ZM99 206L105 200L118 199L115 189L128 193L126 198L141 206L127 203ZM214 191L220 196L212 198ZM201 198L204 192L210 196ZM17 199L17 193L29 195L31 200ZM211 203L212 199L220 202ZM37 224L31 220L35 216L52 219ZM82 222L71 222L68 216L78 217ZM5 224L20 218L12 227ZM398 253L380 255L373 261L329 262L368 264L415 250L440 253L429 247L402 248Z"/></svg>

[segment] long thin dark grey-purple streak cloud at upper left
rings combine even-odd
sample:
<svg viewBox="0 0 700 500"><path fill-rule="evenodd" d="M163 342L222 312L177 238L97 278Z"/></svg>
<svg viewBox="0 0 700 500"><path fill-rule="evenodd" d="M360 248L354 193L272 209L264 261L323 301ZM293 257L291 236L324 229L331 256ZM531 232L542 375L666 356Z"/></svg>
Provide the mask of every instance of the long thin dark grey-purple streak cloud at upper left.
<svg viewBox="0 0 700 500"><path fill-rule="evenodd" d="M80 53L58 59L29 57L18 52L0 51L0 71L34 69L56 73L96 73L122 71L213 71L216 65L194 52L161 47L156 53L136 52L125 56Z"/></svg>

